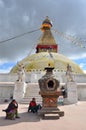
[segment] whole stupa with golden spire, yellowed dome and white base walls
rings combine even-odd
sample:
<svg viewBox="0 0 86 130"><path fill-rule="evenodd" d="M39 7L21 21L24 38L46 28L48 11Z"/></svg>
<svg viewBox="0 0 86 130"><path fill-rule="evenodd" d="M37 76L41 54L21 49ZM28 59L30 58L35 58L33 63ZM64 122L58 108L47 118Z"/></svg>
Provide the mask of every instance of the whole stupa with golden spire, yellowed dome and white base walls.
<svg viewBox="0 0 86 130"><path fill-rule="evenodd" d="M24 102L26 102L26 99L28 100L27 102L29 102L31 100L30 98L32 98L34 94L37 101L40 102L41 100L38 97L38 80L45 74L44 68L47 68L48 65L50 65L51 68L54 68L53 74L56 79L60 81L60 87L68 82L69 84L67 86L70 90L70 82L75 81L77 83L78 89L78 100L86 100L86 74L84 74L83 70L75 62L64 55L59 54L58 43L56 43L51 31L52 26L52 22L48 17L46 17L41 25L42 35L35 48L36 53L27 56L18 62L18 64L11 69L10 73L0 74L0 100L10 99L14 92L15 81L22 80L26 83L27 88L26 92L25 89L21 88ZM25 69L25 76L23 75L23 79L21 79L20 75L20 78L18 78L19 65L23 65ZM68 65L72 68L72 74L71 71L68 71L68 68L70 68ZM73 83L74 82L72 82L72 84ZM74 84L72 85L72 88L73 87ZM31 90L34 90L34 94L33 92L29 91L29 88L31 88ZM24 93L22 90L24 90ZM74 92L74 90L72 92ZM70 94L73 93L69 92L69 95ZM74 97L74 95L69 97ZM73 98L70 99L70 101L71 100L74 103L75 99Z"/></svg>

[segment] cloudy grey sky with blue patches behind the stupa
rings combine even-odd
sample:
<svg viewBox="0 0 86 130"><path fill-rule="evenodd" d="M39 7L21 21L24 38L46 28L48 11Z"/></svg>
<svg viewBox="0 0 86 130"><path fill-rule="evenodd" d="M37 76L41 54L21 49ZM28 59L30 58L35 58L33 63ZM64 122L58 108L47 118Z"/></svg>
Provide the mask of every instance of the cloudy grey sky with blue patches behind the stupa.
<svg viewBox="0 0 86 130"><path fill-rule="evenodd" d="M59 53L86 72L86 0L0 0L0 73L33 54L42 32L1 41L39 29L46 16L53 23Z"/></svg>

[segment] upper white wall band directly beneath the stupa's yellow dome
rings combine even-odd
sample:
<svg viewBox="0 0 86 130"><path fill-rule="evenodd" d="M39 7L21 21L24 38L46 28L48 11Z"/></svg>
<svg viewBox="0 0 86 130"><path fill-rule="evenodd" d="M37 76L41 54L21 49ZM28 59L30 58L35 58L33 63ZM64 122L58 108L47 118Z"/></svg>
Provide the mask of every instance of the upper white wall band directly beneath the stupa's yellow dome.
<svg viewBox="0 0 86 130"><path fill-rule="evenodd" d="M33 71L26 73L26 82L38 82L38 79L41 78L44 75L45 72L43 71ZM66 82L66 76L65 72L54 72L55 76L60 80L61 83ZM15 82L17 80L17 74L10 74L10 73L4 73L0 74L0 82ZM34 78L33 78L34 77ZM76 74L73 75L74 81L77 83L86 83L86 74L81 75L81 74Z"/></svg>

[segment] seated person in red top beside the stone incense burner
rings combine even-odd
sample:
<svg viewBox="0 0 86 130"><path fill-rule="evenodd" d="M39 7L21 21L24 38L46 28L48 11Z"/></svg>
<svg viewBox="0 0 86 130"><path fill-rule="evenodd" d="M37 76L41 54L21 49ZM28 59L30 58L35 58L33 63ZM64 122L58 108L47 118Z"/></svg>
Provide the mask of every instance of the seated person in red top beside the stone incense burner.
<svg viewBox="0 0 86 130"><path fill-rule="evenodd" d="M31 111L33 113L38 112L39 109L41 109L40 104L36 104L36 99L32 98L32 101L30 101L29 107L28 107L28 112Z"/></svg>

